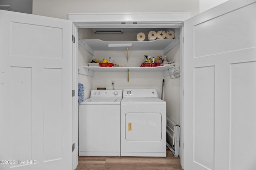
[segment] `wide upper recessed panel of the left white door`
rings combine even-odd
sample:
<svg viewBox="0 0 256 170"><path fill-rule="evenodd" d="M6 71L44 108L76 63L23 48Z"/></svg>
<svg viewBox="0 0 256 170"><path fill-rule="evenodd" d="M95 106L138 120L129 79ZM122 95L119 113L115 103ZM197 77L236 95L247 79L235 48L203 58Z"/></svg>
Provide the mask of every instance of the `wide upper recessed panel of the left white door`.
<svg viewBox="0 0 256 170"><path fill-rule="evenodd" d="M11 56L62 59L62 28L11 22L10 33Z"/></svg>

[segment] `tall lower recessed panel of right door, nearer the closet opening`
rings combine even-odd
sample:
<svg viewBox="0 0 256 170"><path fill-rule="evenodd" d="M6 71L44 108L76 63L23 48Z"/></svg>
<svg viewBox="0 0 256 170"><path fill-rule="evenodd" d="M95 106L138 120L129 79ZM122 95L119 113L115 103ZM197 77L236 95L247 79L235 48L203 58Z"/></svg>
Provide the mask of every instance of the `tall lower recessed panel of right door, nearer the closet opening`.
<svg viewBox="0 0 256 170"><path fill-rule="evenodd" d="M209 169L214 167L214 70L194 68L194 161Z"/></svg>

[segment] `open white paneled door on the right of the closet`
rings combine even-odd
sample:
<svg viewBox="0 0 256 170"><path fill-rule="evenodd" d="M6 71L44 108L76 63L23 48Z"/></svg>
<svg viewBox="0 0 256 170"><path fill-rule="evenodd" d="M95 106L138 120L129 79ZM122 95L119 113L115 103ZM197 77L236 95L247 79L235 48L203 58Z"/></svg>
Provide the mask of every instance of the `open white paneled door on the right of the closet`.
<svg viewBox="0 0 256 170"><path fill-rule="evenodd" d="M184 170L256 169L256 1L184 22Z"/></svg>

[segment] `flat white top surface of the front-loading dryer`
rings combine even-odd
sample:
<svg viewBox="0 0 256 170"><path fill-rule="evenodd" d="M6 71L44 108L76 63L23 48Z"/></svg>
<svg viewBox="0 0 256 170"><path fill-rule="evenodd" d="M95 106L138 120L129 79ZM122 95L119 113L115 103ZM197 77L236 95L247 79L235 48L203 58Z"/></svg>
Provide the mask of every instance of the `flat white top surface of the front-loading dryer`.
<svg viewBox="0 0 256 170"><path fill-rule="evenodd" d="M160 98L122 98L121 104L166 104Z"/></svg>

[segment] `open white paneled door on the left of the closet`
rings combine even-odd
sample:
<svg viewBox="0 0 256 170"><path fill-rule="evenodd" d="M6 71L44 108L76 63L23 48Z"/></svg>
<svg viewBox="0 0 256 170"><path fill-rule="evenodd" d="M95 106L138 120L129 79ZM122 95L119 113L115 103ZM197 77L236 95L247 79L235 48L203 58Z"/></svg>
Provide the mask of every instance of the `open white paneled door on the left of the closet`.
<svg viewBox="0 0 256 170"><path fill-rule="evenodd" d="M72 22L0 10L0 23L0 169L71 170Z"/></svg>

